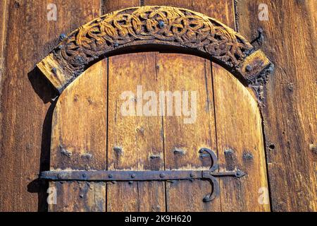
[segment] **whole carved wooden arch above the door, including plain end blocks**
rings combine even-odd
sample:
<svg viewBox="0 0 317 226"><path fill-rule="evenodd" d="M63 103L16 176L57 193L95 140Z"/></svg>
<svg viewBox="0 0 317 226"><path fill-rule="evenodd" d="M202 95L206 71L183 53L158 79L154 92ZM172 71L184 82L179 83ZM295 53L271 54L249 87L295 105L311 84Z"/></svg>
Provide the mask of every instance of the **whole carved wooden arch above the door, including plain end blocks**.
<svg viewBox="0 0 317 226"><path fill-rule="evenodd" d="M61 93L92 62L116 49L144 44L182 47L206 54L242 83L257 83L272 65L239 33L218 20L185 8L125 8L82 25L37 64ZM262 79L262 78L261 78Z"/></svg>

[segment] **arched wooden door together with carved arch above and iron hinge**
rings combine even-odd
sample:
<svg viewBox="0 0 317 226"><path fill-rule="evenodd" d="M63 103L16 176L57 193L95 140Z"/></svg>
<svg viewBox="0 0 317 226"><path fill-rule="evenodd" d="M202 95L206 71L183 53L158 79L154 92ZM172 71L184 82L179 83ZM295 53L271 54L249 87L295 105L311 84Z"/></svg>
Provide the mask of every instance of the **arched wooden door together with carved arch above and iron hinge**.
<svg viewBox="0 0 317 226"><path fill-rule="evenodd" d="M259 85L266 57L225 25L185 9L113 15L68 35L39 64L61 91L51 171L41 175L56 194L49 210L269 210L261 114L246 86ZM209 54L236 78L207 55L178 49L103 57L120 45L166 44L162 35Z"/></svg>

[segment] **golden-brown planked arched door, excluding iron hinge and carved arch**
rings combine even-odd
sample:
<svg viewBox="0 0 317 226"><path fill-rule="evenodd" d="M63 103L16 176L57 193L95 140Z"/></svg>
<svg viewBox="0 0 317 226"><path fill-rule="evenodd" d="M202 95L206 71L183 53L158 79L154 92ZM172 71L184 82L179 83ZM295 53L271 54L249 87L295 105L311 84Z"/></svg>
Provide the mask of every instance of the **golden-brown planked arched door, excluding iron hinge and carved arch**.
<svg viewBox="0 0 317 226"><path fill-rule="evenodd" d="M211 184L200 180L51 182L58 199L49 210L269 210L268 203L259 202L267 180L256 100L230 73L211 65L201 57L159 52L125 54L94 64L58 99L51 170L208 169L211 162L198 152L205 147L217 153L221 172L239 168L245 177L219 179L220 195L209 203L202 198ZM185 124L188 116L176 116L175 103L172 116L137 116L137 110L135 116L122 115L127 99L121 95L126 91L131 91L128 98L135 108L140 101L144 107L147 100L137 97L141 86L143 94L187 90L190 96L196 91L197 118ZM232 90L235 96L229 96Z"/></svg>

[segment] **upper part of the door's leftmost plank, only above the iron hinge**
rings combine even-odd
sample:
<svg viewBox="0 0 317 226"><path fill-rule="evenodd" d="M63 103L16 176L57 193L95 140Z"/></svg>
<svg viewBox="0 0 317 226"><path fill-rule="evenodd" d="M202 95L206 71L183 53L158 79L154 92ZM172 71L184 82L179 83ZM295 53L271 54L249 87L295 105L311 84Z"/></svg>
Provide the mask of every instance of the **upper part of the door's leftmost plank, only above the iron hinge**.
<svg viewBox="0 0 317 226"><path fill-rule="evenodd" d="M107 61L87 69L56 103L51 129L51 170L106 169Z"/></svg>

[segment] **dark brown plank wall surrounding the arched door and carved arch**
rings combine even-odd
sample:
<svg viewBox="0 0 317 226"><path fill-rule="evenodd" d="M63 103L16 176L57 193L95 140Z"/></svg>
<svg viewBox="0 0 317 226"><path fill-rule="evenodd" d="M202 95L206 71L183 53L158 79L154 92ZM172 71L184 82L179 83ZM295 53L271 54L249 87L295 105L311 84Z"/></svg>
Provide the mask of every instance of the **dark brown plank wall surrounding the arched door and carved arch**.
<svg viewBox="0 0 317 226"><path fill-rule="evenodd" d="M0 68L1 211L42 210L46 201L46 188L39 189L35 179L40 168L49 166L51 129L47 122L51 121L53 107L47 110L55 94L39 71L32 71L35 64L51 51L59 34L96 18L101 8L104 14L107 8L113 7L109 10L113 11L139 5L139 1L127 2L56 1L61 6L58 20L50 22L46 20L49 1L1 1L0 6L8 5L0 7L6 9L6 13L1 12L4 20L0 23L0 28L5 28L0 40L6 56ZM268 86L266 114L271 121L265 125L272 210L316 210L315 0L237 3L238 31L251 41L261 25L266 35L261 49L278 65ZM261 3L268 4L269 21L258 20ZM189 8L235 28L231 0L144 0L144 4Z"/></svg>

